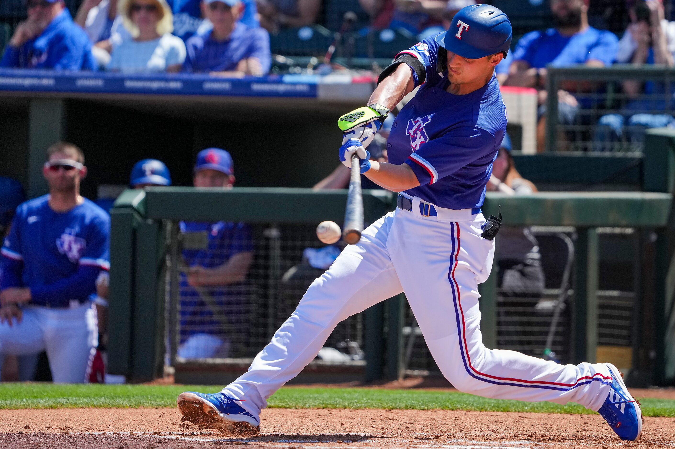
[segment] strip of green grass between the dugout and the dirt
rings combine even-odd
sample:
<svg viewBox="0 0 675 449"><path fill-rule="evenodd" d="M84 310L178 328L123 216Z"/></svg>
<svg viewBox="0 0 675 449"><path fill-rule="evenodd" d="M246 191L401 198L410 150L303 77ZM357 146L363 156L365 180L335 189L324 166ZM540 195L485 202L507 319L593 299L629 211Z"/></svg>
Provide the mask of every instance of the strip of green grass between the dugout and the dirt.
<svg viewBox="0 0 675 449"><path fill-rule="evenodd" d="M0 409L65 407L174 407L180 392L218 391L214 386L0 384ZM675 416L675 400L641 398L645 416ZM541 413L592 413L580 405L486 399L437 390L282 388L269 407L288 409L446 409Z"/></svg>

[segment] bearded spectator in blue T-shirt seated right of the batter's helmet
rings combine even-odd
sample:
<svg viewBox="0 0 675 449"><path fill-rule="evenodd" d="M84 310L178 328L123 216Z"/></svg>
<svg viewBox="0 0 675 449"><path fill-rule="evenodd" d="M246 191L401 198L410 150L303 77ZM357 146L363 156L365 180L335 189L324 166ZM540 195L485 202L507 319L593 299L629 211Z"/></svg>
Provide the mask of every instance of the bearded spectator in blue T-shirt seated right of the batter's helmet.
<svg viewBox="0 0 675 449"><path fill-rule="evenodd" d="M605 67L611 65L616 56L616 36L589 26L588 8L589 0L551 0L556 28L525 34L513 52L513 62L504 84L539 90L539 151L543 150L545 139L546 65ZM585 90L587 86L568 82L563 88L558 92L558 121L573 125L578 119L580 105L569 91ZM565 136L560 139L564 140Z"/></svg>

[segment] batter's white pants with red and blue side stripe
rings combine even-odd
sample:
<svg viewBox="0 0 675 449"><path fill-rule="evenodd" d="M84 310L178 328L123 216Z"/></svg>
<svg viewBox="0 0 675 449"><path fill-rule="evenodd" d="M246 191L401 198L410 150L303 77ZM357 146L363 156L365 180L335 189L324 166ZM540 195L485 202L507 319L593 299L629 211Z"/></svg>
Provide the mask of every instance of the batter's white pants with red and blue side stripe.
<svg viewBox="0 0 675 449"><path fill-rule="evenodd" d="M559 365L487 349L478 285L490 274L494 242L482 214L396 209L342 251L309 287L290 318L244 375L223 389L254 416L267 398L311 362L338 322L404 291L434 360L458 390L488 398L568 401L597 411L612 382L605 365ZM497 237L498 238L498 237Z"/></svg>

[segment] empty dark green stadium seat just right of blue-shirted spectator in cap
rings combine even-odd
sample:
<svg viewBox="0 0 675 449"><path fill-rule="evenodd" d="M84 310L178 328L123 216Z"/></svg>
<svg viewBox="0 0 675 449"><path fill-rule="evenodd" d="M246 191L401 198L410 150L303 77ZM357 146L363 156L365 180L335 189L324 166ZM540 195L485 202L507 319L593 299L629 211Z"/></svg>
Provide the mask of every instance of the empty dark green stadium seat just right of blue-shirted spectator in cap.
<svg viewBox="0 0 675 449"><path fill-rule="evenodd" d="M333 33L321 25L288 28L269 36L270 49L277 55L323 56L331 42Z"/></svg>

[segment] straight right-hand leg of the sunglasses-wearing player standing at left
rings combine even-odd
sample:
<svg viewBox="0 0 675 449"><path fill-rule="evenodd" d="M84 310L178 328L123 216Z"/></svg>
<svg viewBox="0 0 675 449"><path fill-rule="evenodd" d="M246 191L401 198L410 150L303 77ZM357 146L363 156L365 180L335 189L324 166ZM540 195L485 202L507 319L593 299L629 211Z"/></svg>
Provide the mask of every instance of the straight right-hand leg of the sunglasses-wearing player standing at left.
<svg viewBox="0 0 675 449"><path fill-rule="evenodd" d="M45 349L56 383L82 384L96 353L99 330L96 311L86 302L73 309L43 309Z"/></svg>

